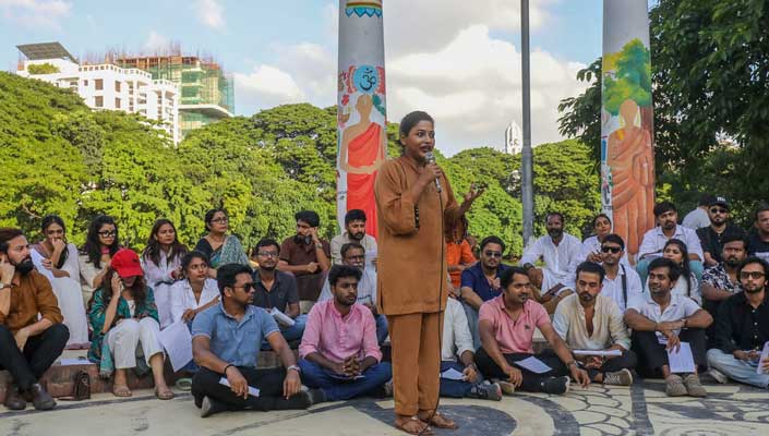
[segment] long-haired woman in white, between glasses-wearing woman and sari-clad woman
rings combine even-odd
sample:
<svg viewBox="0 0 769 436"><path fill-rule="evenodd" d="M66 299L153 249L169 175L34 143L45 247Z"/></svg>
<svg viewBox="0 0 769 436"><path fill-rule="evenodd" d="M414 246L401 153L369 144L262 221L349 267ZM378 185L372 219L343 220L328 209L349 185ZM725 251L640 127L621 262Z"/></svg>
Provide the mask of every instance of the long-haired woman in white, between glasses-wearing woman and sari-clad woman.
<svg viewBox="0 0 769 436"><path fill-rule="evenodd" d="M177 239L173 222L165 218L155 221L142 253L142 268L147 284L155 293L160 328L171 324L171 286L181 279L181 258L187 251L187 246Z"/></svg>

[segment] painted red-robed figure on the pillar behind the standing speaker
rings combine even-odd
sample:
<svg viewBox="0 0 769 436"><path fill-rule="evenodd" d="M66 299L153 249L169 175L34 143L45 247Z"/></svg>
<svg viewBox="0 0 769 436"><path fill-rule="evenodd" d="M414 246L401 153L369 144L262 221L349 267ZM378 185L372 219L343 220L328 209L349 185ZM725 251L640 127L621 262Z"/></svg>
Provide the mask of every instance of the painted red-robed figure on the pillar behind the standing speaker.
<svg viewBox="0 0 769 436"><path fill-rule="evenodd" d="M367 218L365 232L376 238L374 181L385 159L385 132L382 125L370 119L373 109L370 95L361 95L356 109L360 113L360 122L347 128L341 138L340 167L347 173L347 210L363 210Z"/></svg>

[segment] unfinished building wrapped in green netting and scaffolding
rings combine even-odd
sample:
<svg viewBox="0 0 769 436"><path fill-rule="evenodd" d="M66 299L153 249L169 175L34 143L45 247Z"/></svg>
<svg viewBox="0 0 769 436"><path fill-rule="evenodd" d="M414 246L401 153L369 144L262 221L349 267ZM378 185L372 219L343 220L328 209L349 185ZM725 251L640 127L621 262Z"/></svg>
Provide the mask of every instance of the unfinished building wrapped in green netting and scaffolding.
<svg viewBox="0 0 769 436"><path fill-rule="evenodd" d="M113 63L124 69L139 69L154 80L179 84L181 99L179 121L182 136L235 113L232 76L225 74L213 59L196 56L120 56Z"/></svg>

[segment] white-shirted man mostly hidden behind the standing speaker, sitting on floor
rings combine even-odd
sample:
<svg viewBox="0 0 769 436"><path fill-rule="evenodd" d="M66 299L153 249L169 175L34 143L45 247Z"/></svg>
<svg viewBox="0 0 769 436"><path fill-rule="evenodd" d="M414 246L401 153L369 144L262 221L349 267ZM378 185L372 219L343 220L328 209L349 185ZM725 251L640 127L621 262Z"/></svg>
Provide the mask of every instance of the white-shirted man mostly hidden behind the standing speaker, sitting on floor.
<svg viewBox="0 0 769 436"><path fill-rule="evenodd" d="M457 359L458 358L458 359ZM452 371L454 370L454 371ZM448 372L448 373L447 373ZM462 379L450 378L461 373ZM441 343L441 397L478 398L500 401L502 388L498 384L483 382L476 366L472 335L461 303L454 298L446 301L443 319L443 342Z"/></svg>

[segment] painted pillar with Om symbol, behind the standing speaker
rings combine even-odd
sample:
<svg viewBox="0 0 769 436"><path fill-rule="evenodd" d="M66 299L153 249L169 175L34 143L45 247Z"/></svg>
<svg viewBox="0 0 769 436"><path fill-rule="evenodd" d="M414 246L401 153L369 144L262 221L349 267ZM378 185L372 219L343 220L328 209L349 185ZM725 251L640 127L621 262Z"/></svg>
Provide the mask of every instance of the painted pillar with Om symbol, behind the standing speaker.
<svg viewBox="0 0 769 436"><path fill-rule="evenodd" d="M374 179L387 156L382 0L339 0L337 217L362 209L376 238Z"/></svg>

